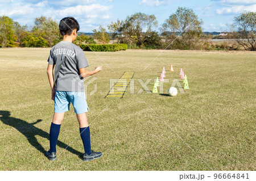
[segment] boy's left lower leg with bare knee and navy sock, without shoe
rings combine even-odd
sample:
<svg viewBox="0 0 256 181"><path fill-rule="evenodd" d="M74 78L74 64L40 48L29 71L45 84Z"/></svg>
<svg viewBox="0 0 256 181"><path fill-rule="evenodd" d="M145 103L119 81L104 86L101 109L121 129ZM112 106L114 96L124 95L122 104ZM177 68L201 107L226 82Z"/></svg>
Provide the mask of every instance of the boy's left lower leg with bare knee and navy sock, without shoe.
<svg viewBox="0 0 256 181"><path fill-rule="evenodd" d="M52 124L49 132L50 150L49 153L56 153L56 144L60 133L60 125L64 119L63 113L54 113Z"/></svg>

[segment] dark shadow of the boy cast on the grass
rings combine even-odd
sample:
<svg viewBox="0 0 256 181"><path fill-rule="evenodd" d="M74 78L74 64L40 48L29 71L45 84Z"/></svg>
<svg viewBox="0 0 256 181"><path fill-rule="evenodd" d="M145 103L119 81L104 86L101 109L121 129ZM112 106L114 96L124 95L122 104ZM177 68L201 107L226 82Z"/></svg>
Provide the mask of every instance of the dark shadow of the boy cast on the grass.
<svg viewBox="0 0 256 181"><path fill-rule="evenodd" d="M24 134L26 136L28 142L32 146L34 146L36 149L38 149L41 153L45 154L46 150L43 148L42 145L39 144L38 140L36 139L36 135L41 136L43 138L47 138L49 140L49 133L43 131L42 129L36 128L34 124L39 123L42 120L37 120L35 123L27 123L24 120L17 119L15 117L10 117L10 111L0 111L0 120L6 124L9 125L15 129L17 129L20 133ZM57 146L67 149L73 154L78 155L81 157L82 153L80 151L77 151L70 146L64 144L64 142L57 141Z"/></svg>

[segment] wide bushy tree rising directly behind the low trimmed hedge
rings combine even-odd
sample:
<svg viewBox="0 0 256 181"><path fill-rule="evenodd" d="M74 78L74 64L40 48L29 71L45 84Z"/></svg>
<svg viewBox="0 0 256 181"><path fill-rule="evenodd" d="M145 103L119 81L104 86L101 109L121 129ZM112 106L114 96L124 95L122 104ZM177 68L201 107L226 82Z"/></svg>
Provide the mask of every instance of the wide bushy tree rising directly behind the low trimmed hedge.
<svg viewBox="0 0 256 181"><path fill-rule="evenodd" d="M117 20L109 24L108 28L113 37L117 37L121 43L146 45L148 37L156 36L154 28L158 26L155 15L146 15L141 12L127 16L126 20ZM149 41L148 41L149 42Z"/></svg>

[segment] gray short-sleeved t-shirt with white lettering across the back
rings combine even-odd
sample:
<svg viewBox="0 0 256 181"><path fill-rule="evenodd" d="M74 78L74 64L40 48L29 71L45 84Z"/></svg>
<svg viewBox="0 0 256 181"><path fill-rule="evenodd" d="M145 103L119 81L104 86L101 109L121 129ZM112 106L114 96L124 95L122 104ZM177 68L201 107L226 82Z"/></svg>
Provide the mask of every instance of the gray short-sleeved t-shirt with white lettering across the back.
<svg viewBox="0 0 256 181"><path fill-rule="evenodd" d="M86 68L89 63L80 47L69 41L60 41L52 47L48 62L55 65L57 91L84 91L84 79L79 69Z"/></svg>

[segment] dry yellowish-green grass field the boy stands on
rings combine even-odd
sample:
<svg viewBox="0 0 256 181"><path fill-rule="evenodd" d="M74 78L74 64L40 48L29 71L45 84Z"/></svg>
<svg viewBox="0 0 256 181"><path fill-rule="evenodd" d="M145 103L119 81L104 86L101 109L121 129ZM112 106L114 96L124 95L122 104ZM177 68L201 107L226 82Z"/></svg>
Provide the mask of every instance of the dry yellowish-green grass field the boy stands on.
<svg viewBox="0 0 256 181"><path fill-rule="evenodd" d="M103 156L82 161L71 108L61 125L57 160L51 162L44 156L53 115L49 49L0 49L0 170L256 170L256 52L167 50L152 62L160 52L97 52L102 60L85 52L89 70L103 66L88 86L90 92L97 82L97 92L87 98L92 149ZM174 72L168 71L171 64ZM138 79L159 77L163 66L170 80L164 94L137 94ZM166 96L180 68L189 90ZM135 71L135 94L128 89L123 99L104 99L109 80L124 71ZM153 85L151 80L148 88Z"/></svg>

